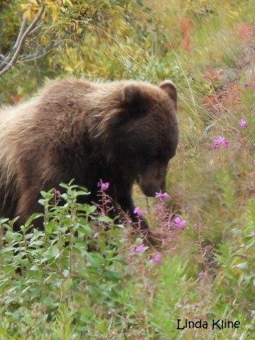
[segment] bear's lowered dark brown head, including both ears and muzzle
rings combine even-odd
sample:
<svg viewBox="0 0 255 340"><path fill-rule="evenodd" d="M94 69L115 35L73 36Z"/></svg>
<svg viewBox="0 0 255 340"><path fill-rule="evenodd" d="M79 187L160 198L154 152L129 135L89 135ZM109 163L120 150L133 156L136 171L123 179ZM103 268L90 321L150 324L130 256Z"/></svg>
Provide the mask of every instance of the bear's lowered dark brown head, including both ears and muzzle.
<svg viewBox="0 0 255 340"><path fill-rule="evenodd" d="M146 196L165 191L169 159L179 139L176 120L176 87L171 81L159 86L120 82L111 97L114 110L106 114L101 127L108 155L125 176L136 180Z"/></svg>

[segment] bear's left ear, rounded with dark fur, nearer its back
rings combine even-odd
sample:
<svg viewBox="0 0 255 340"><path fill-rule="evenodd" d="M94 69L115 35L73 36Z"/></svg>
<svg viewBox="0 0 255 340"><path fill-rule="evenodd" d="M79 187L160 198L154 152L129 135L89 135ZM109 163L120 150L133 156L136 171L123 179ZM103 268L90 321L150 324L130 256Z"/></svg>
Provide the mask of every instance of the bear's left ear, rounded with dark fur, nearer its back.
<svg viewBox="0 0 255 340"><path fill-rule="evenodd" d="M139 86L128 84L123 89L123 102L126 112L131 117L141 117L146 114L146 98Z"/></svg>

